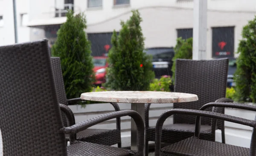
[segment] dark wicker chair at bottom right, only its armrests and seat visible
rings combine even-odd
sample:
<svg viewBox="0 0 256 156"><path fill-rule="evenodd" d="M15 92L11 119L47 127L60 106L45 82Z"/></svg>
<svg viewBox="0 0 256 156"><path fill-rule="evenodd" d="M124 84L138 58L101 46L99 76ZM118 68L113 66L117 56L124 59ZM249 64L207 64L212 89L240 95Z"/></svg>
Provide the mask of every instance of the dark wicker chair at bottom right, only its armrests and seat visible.
<svg viewBox="0 0 256 156"><path fill-rule="evenodd" d="M185 110L185 109L173 109L163 113L156 125L156 144L155 144L155 156L256 156L256 121L247 120L244 118L238 118L234 116L225 115L222 113L215 113L209 111L202 111L208 107L229 107L238 108L243 110L256 111L255 106L246 104L235 103L209 103L201 107L200 110ZM169 146L160 149L162 127L163 123L169 116L174 114L194 115L196 118L195 135L184 139L180 142L176 142ZM253 127L253 134L251 138L250 149L245 147L238 147L230 144L223 144L219 142L211 142L200 137L201 117L213 118L212 125L216 125L216 119L234 122L237 124L244 124Z"/></svg>

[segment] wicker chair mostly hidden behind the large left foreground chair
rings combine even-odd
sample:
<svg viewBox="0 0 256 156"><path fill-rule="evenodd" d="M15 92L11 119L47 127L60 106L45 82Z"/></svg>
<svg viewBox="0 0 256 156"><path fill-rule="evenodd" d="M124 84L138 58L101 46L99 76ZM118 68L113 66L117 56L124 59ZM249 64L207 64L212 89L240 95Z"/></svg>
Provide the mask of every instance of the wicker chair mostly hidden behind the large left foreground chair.
<svg viewBox="0 0 256 156"><path fill-rule="evenodd" d="M67 100L64 81L61 71L61 61L58 57L52 57L52 69L55 78L55 84L57 88L58 101L61 104L73 104L75 102L81 101L81 98L73 98ZM119 111L119 106L117 103L111 103L115 111ZM70 110L71 111L71 110ZM72 112L72 111L71 111ZM72 116L73 117L73 116ZM65 114L62 113L64 126L72 126L76 124L75 118L67 118ZM116 118L116 129L105 130L105 129L86 129L76 134L76 138L83 142L92 142L96 144L113 145L118 144L121 147L121 130L120 130L120 118ZM69 140L69 137L67 137Z"/></svg>

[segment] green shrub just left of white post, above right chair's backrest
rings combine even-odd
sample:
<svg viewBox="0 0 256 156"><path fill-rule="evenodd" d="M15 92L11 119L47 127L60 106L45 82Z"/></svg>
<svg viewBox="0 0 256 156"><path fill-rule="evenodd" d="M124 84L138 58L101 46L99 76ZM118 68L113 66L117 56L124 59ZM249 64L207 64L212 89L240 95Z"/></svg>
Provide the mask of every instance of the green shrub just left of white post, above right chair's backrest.
<svg viewBox="0 0 256 156"><path fill-rule="evenodd" d="M188 38L184 40L182 38L177 38L177 43L174 48L175 55L172 58L172 78L175 81L175 69L176 69L176 59L184 58L184 59L192 59L192 50L193 50L193 39Z"/></svg>

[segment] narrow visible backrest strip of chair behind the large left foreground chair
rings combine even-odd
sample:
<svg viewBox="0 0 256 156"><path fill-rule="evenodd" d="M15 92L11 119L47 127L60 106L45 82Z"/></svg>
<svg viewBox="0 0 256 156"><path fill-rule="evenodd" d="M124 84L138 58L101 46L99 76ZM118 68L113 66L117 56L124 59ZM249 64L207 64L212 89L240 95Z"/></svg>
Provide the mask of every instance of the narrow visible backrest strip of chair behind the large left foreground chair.
<svg viewBox="0 0 256 156"><path fill-rule="evenodd" d="M63 80L62 70L61 70L61 59L59 57L51 57L51 60L52 60L53 75L55 78L55 84L57 89L58 102L60 104L67 105L67 96L66 96L64 80Z"/></svg>

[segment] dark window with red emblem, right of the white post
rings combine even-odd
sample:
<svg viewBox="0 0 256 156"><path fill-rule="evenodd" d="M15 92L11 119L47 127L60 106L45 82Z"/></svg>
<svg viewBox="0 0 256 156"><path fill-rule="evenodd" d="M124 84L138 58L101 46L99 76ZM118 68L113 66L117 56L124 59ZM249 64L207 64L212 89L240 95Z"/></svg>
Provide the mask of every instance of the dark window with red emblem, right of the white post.
<svg viewBox="0 0 256 156"><path fill-rule="evenodd" d="M234 57L234 27L212 28L212 57Z"/></svg>

